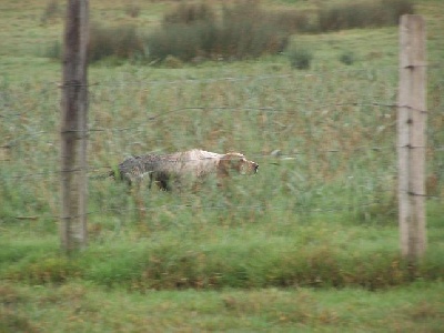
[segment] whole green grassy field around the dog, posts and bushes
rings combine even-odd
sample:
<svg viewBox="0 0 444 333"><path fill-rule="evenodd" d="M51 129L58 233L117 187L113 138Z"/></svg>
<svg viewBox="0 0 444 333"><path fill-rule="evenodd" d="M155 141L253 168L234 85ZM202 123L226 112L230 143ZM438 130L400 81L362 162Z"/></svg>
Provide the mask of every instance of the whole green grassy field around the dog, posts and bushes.
<svg viewBox="0 0 444 333"><path fill-rule="evenodd" d="M0 4L0 332L441 332L441 1L416 3L428 31L431 198L415 270L396 225L396 27L295 34L314 57L304 71L285 56L91 65L91 176L130 154L195 147L242 151L260 172L172 194L91 180L89 248L61 255L61 67L47 56L64 2L51 2ZM133 3L135 18L122 1L91 1L91 17L150 31L174 6Z"/></svg>

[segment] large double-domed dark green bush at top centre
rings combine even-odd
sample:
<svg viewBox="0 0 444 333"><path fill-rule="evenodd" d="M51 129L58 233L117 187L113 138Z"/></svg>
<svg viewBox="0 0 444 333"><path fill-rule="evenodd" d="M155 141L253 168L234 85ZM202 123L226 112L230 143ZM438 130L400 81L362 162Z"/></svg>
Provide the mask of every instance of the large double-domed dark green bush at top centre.
<svg viewBox="0 0 444 333"><path fill-rule="evenodd" d="M148 38L150 58L173 56L182 61L195 58L245 59L282 51L289 32L254 1L225 6L216 20L208 4L181 3L165 14L159 30Z"/></svg>

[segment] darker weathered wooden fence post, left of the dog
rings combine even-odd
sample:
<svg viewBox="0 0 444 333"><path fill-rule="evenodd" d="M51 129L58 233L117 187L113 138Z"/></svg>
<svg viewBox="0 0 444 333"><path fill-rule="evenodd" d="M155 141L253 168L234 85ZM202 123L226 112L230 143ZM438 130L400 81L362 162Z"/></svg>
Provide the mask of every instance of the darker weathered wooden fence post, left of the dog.
<svg viewBox="0 0 444 333"><path fill-rule="evenodd" d="M61 114L61 246L87 245L88 0L68 0Z"/></svg>

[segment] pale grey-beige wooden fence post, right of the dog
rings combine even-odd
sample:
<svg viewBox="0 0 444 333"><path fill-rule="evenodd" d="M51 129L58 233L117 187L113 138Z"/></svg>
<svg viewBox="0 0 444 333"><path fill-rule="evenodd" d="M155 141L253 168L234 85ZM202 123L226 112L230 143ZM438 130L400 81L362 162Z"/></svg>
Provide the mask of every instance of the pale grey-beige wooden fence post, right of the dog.
<svg viewBox="0 0 444 333"><path fill-rule="evenodd" d="M406 14L400 24L398 200L401 252L412 264L424 254L425 232L425 23Z"/></svg>

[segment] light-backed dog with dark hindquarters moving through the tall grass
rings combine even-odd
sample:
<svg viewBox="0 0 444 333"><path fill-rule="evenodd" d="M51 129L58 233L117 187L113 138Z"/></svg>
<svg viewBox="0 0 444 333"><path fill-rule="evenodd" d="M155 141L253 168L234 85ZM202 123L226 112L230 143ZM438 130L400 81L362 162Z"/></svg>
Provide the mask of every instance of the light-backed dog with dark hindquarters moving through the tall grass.
<svg viewBox="0 0 444 333"><path fill-rule="evenodd" d="M182 188L186 182L204 180L211 174L222 179L231 174L255 174L258 169L258 163L238 152L220 154L193 149L171 154L130 157L109 175L127 181L129 185L140 184L148 176L149 189L155 183L159 189L171 191L173 188Z"/></svg>

